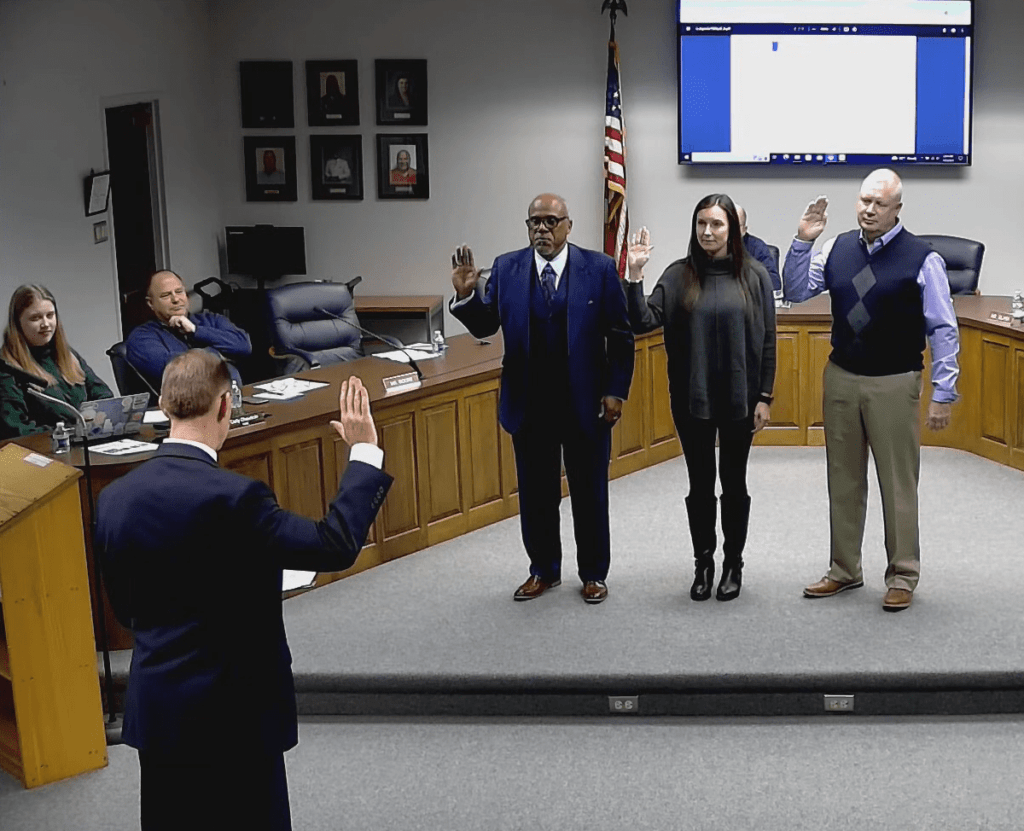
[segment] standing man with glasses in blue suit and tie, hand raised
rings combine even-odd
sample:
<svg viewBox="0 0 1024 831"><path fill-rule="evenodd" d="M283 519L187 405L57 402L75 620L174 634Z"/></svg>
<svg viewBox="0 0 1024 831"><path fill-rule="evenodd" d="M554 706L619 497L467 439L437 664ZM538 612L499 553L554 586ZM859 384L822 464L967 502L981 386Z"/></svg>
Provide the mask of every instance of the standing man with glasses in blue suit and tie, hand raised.
<svg viewBox="0 0 1024 831"><path fill-rule="evenodd" d="M512 435L529 578L518 601L561 582L561 464L572 504L583 599L607 595L611 428L633 378L633 333L610 257L568 245L565 201L542 193L526 219L529 248L480 270L468 246L452 257L452 313L477 338L505 339L499 421Z"/></svg>

